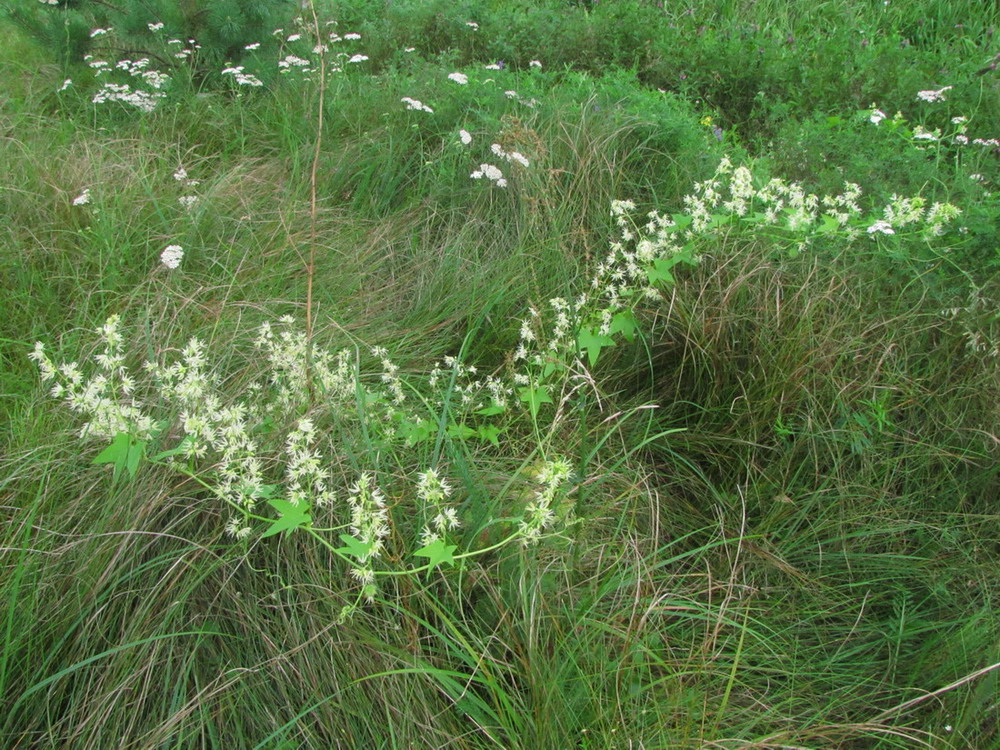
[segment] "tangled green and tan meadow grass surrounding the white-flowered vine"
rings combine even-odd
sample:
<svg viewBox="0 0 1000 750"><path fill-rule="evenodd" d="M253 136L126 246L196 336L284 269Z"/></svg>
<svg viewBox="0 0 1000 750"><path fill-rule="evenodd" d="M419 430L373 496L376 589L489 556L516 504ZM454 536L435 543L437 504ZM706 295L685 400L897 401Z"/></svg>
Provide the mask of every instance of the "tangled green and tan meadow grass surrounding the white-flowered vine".
<svg viewBox="0 0 1000 750"><path fill-rule="evenodd" d="M993 180L993 157L942 158L850 121L876 97L916 118L915 90L989 58L994 19L966 20L961 5L335 4L369 40L376 75L345 77L329 100L316 338L389 347L413 382L462 350L499 369L528 305L587 284L612 200L679 210L723 149L817 190L858 180L877 200L926 188L985 227L950 240L948 261L910 246L789 258L778 240L720 236L639 311L642 336L593 368L587 408L541 440L511 417L497 448L444 441L463 549L498 538L489 519L520 512L519 477L539 453L573 463L580 522L540 547L393 579L346 622L351 582L311 538L235 541L220 503L164 467L113 483L90 465L101 446L78 439L25 357L43 339L82 361L92 329L121 312L137 361L197 335L232 387L256 377L255 327L303 315L314 95L287 84L178 94L149 117L96 111L54 98L54 70L28 76L46 53L12 36L3 66L16 83L0 109L0 166L18 176L0 191L0 737L26 748L993 746L998 371L968 334L996 335L995 306L941 314L995 299L990 185L968 180ZM883 31L848 45L874 18ZM385 62L407 44L420 45L415 62ZM762 62L747 64L751 45ZM470 106L444 80L459 63L523 67L543 52L543 72L510 79L535 109L485 88ZM961 75L930 80L945 60ZM892 66L905 74L869 75ZM929 117L995 122L994 80L968 80L954 109ZM404 95L434 101L435 117L402 111ZM706 113L722 142L699 124ZM533 170L507 191L469 180L479 156L459 128L523 148ZM190 211L177 202L182 165L200 181ZM90 208L71 205L87 187ZM174 242L179 274L157 261ZM407 487L433 451L373 448L363 424L345 418L322 451L345 486L378 473L403 516L398 558L420 527Z"/></svg>

